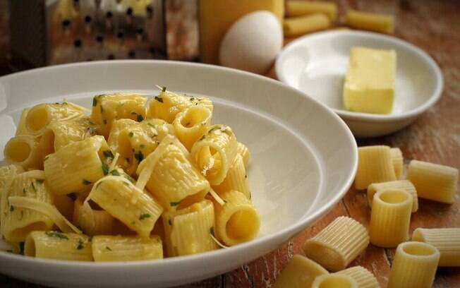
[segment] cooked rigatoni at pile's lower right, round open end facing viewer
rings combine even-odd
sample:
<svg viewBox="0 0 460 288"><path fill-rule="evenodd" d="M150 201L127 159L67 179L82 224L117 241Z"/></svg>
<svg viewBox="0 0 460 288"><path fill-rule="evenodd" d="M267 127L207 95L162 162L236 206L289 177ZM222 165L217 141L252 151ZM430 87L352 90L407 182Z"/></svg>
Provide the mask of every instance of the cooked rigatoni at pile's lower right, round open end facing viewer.
<svg viewBox="0 0 460 288"><path fill-rule="evenodd" d="M217 239L228 246L254 239L260 229L260 215L253 203L238 191L226 191L221 197L225 204L214 204Z"/></svg>

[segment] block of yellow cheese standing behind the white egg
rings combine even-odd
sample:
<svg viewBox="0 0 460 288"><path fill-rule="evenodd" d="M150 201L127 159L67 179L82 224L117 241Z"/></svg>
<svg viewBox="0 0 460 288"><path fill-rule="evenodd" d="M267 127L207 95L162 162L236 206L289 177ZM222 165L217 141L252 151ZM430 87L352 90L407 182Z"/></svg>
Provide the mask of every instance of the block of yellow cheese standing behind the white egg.
<svg viewBox="0 0 460 288"><path fill-rule="evenodd" d="M284 17L284 0L200 0L200 53L201 60L218 64L220 42L226 31L247 13L266 10L279 18Z"/></svg>

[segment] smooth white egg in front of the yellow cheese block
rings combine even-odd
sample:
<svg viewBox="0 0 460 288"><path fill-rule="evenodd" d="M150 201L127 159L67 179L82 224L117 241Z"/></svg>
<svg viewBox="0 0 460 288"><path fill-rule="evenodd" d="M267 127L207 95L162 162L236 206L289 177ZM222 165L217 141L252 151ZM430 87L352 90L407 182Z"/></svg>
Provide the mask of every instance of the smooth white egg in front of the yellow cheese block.
<svg viewBox="0 0 460 288"><path fill-rule="evenodd" d="M237 20L220 44L222 66L265 73L283 46L283 30L274 13L255 11Z"/></svg>

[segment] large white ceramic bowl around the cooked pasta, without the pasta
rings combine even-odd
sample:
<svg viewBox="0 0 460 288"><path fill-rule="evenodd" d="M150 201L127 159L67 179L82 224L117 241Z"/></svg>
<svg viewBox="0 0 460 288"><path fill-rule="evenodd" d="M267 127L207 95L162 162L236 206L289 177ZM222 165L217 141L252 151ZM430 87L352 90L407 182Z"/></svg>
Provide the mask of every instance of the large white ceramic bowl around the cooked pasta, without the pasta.
<svg viewBox="0 0 460 288"><path fill-rule="evenodd" d="M349 128L303 93L252 73L173 61L90 62L0 78L0 143L20 110L40 102L90 107L110 91L157 93L155 85L214 101L214 123L229 124L251 152L250 189L262 226L254 241L195 256L131 263L40 260L0 252L0 272L55 287L164 287L227 272L277 248L337 203L353 181Z"/></svg>

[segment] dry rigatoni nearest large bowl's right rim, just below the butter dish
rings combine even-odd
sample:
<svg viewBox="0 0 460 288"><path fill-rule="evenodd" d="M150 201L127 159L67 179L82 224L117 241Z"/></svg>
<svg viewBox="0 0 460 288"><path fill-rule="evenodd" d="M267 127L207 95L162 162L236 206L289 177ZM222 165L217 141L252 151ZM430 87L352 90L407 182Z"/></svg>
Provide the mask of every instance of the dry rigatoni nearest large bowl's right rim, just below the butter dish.
<svg viewBox="0 0 460 288"><path fill-rule="evenodd" d="M355 188L365 189L370 184L387 181L396 181L389 147L376 145L358 148Z"/></svg>

